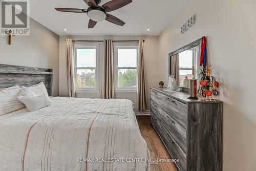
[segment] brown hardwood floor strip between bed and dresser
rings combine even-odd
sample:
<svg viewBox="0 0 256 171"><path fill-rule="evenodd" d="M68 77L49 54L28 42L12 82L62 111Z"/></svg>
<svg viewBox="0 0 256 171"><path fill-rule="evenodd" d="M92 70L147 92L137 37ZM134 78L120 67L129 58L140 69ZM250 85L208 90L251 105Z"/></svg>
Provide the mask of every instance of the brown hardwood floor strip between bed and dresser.
<svg viewBox="0 0 256 171"><path fill-rule="evenodd" d="M173 162L157 162L157 159L170 159L162 141L150 124L150 116L137 116L142 137L145 139L151 157L155 162L151 163L152 171L177 171Z"/></svg>

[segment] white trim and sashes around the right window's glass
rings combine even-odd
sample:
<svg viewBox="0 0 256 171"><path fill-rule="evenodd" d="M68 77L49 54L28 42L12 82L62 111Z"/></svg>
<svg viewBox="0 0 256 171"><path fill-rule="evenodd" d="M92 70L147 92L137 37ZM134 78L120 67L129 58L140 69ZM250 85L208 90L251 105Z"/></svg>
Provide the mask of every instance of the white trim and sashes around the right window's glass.
<svg viewBox="0 0 256 171"><path fill-rule="evenodd" d="M118 67L118 49L137 49L137 67ZM138 87L138 82L137 82L137 87L124 87L124 88L119 88L118 87L118 69L137 69L137 80L138 81L138 64L139 64L139 44L134 43L134 42L129 42L129 43L114 43L114 58L115 58L115 93L136 93L137 92L137 87Z"/></svg>

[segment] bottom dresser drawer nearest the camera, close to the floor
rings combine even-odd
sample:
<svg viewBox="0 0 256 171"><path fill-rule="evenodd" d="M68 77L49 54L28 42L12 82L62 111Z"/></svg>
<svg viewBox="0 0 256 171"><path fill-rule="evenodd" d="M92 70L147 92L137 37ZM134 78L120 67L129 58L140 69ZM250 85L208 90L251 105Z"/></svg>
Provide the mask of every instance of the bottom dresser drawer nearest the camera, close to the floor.
<svg viewBox="0 0 256 171"><path fill-rule="evenodd" d="M182 151L181 147L177 144L171 134L162 127L161 133L162 140L168 150L168 152L172 155L173 159L179 159L180 161L176 164L179 167L179 170L186 170L186 154Z"/></svg>

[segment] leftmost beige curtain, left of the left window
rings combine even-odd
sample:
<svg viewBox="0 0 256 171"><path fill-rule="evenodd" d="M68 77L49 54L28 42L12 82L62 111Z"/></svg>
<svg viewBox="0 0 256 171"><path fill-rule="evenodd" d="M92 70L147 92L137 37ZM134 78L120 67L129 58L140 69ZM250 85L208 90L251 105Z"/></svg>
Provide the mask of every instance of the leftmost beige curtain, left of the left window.
<svg viewBox="0 0 256 171"><path fill-rule="evenodd" d="M74 46L72 39L66 39L66 61L69 97L75 97Z"/></svg>

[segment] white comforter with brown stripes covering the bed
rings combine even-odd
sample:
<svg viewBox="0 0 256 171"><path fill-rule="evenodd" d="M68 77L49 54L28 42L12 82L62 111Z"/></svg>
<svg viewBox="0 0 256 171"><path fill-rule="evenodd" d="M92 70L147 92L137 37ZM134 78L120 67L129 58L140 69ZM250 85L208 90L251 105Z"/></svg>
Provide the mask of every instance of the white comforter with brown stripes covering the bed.
<svg viewBox="0 0 256 171"><path fill-rule="evenodd" d="M51 100L35 112L0 116L1 171L149 170L130 100Z"/></svg>

